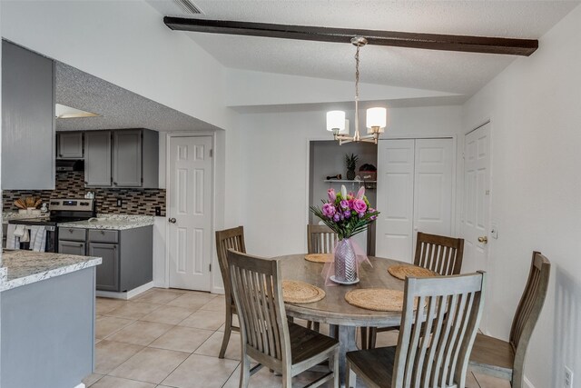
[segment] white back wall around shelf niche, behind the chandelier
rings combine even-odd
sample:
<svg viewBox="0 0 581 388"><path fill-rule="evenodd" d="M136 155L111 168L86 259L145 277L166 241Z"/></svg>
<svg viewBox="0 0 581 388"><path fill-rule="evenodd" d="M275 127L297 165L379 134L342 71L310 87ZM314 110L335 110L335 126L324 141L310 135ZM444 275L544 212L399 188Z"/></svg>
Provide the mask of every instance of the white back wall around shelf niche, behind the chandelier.
<svg viewBox="0 0 581 388"><path fill-rule="evenodd" d="M389 115L384 137L461 130L459 106L390 109ZM247 251L265 256L306 252L309 140L330 138L325 112L244 114L239 135L241 190L232 200L241 206Z"/></svg>

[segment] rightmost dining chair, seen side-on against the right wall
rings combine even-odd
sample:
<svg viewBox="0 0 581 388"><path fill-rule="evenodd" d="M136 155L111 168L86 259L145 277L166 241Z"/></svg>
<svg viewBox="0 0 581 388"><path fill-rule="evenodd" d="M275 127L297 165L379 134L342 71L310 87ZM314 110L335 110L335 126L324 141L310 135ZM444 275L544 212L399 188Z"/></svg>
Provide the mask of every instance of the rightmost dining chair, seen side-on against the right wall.
<svg viewBox="0 0 581 388"><path fill-rule="evenodd" d="M508 380L513 388L523 386L527 347L545 303L550 271L547 257L533 252L527 285L512 320L508 342L478 333L470 354L472 371Z"/></svg>

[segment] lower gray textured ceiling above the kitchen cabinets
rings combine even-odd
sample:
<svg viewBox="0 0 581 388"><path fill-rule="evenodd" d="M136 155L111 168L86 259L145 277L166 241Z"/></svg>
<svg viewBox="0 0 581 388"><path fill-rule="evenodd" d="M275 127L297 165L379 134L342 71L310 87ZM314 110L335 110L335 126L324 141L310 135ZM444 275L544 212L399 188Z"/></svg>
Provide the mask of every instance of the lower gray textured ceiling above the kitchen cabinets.
<svg viewBox="0 0 581 388"><path fill-rule="evenodd" d="M56 119L57 131L148 128L155 131L202 131L214 127L187 114L55 61L57 104L100 114Z"/></svg>

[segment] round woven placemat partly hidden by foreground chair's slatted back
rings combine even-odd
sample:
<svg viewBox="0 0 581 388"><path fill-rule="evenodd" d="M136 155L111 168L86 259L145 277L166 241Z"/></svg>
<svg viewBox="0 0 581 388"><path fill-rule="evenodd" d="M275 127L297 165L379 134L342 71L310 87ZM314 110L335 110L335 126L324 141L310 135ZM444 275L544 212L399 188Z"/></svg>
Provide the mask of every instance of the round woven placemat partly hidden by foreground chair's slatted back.
<svg viewBox="0 0 581 388"><path fill-rule="evenodd" d="M361 288L345 294L345 300L367 310L400 312L403 309L403 291L386 288Z"/></svg>

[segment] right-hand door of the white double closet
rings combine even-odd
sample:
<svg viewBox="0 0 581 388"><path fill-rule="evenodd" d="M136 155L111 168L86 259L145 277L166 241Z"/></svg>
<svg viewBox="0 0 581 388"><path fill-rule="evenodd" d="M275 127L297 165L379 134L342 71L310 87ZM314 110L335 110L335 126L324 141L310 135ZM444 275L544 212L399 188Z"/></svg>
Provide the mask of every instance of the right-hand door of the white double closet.
<svg viewBox="0 0 581 388"><path fill-rule="evenodd" d="M418 139L415 153L414 233L452 235L452 139Z"/></svg>

